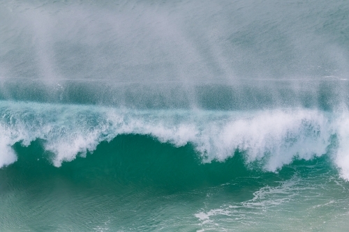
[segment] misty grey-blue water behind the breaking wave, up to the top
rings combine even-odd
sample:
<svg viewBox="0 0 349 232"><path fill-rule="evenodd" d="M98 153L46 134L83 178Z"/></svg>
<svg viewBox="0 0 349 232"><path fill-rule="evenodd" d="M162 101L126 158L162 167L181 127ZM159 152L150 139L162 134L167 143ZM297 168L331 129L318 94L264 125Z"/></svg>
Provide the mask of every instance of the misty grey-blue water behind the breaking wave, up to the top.
<svg viewBox="0 0 349 232"><path fill-rule="evenodd" d="M206 108L218 95L214 107L232 109L348 98L345 1L1 6L4 99Z"/></svg>

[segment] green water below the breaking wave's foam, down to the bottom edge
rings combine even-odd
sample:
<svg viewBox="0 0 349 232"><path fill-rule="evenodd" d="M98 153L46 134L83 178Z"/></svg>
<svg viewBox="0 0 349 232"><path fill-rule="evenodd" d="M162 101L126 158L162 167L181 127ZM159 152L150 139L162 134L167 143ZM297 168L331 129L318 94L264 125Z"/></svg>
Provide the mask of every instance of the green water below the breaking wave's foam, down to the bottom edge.
<svg viewBox="0 0 349 232"><path fill-rule="evenodd" d="M345 231L348 183L324 156L278 173L242 153L201 164L190 145L120 135L61 167L41 141L1 169L5 231Z"/></svg>

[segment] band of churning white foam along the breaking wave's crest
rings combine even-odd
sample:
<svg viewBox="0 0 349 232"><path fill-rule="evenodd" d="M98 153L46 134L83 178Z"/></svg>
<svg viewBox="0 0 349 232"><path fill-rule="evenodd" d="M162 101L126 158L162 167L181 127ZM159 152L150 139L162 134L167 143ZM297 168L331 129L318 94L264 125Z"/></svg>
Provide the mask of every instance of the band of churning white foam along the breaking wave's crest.
<svg viewBox="0 0 349 232"><path fill-rule="evenodd" d="M118 134L147 134L174 146L193 144L203 162L224 161L235 150L246 151L246 162L260 162L276 171L294 159L309 160L327 153L338 137L334 162L349 180L348 113L310 109L265 111L137 111L79 105L0 102L0 167L15 162L11 146L29 146L43 139L54 153L54 166L92 152L101 141Z"/></svg>

